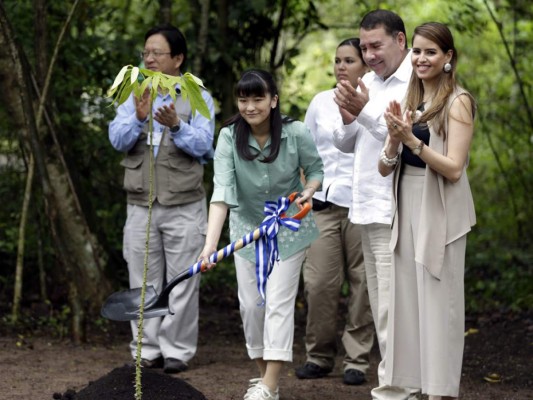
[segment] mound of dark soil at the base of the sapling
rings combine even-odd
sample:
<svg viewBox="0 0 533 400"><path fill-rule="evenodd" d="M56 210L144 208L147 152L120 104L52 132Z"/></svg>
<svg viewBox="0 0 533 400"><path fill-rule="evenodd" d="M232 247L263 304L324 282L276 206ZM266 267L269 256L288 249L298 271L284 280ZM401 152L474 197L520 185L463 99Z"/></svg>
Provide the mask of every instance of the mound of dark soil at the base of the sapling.
<svg viewBox="0 0 533 400"><path fill-rule="evenodd" d="M131 400L135 398L135 367L125 365L115 368L107 375L78 393L70 390L54 394L58 400ZM143 369L141 374L143 400L207 400L187 382L161 372Z"/></svg>

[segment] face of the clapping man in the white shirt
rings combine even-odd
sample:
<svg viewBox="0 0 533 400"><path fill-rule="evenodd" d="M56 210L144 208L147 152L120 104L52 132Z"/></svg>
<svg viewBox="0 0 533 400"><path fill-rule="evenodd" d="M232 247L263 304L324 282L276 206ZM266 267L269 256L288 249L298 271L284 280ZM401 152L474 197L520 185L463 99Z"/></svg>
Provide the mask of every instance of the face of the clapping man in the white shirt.
<svg viewBox="0 0 533 400"><path fill-rule="evenodd" d="M391 36L381 26L370 30L361 28L359 38L366 65L381 79L386 80L396 72L406 54L402 32Z"/></svg>

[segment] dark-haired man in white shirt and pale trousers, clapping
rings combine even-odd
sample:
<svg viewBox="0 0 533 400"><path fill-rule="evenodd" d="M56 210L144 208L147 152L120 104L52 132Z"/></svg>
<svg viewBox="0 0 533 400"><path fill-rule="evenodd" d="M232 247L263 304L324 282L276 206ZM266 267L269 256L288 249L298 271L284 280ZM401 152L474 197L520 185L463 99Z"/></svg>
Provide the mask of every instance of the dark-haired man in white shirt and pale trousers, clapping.
<svg viewBox="0 0 533 400"><path fill-rule="evenodd" d="M391 11L374 10L360 24L360 47L372 72L359 80L359 90L348 81L337 84L335 103L342 124L334 130L334 144L354 153L352 205L349 218L359 225L370 306L374 317L381 362L374 400L415 399L419 393L383 383L391 268L390 225L392 179L377 168L387 137L383 114L391 100L402 101L411 78L411 57L402 19Z"/></svg>

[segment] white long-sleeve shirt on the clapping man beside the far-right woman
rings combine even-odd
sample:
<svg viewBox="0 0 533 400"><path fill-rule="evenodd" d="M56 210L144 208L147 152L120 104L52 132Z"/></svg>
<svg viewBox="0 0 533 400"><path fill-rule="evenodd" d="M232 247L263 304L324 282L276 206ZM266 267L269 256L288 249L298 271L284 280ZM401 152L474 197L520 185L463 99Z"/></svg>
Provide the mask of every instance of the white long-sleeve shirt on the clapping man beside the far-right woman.
<svg viewBox="0 0 533 400"><path fill-rule="evenodd" d="M387 80L374 72L363 76L369 89L369 101L354 122L344 125L342 120L333 131L333 143L346 153L354 153L352 177L352 204L349 218L354 224L390 224L392 174L383 177L378 172L381 149L387 137L383 114L392 100L401 102L413 67L407 54Z"/></svg>

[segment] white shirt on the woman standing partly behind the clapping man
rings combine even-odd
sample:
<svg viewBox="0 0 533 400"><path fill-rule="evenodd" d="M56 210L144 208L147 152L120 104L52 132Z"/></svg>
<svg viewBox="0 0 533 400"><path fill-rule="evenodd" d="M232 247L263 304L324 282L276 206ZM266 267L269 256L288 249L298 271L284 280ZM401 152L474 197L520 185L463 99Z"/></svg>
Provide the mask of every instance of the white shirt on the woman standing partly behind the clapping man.
<svg viewBox="0 0 533 400"><path fill-rule="evenodd" d="M349 208L352 203L354 156L343 153L333 144L333 131L338 124L342 124L339 107L333 97L333 89L318 93L305 113L304 122L313 135L324 163L322 190L316 192L313 198Z"/></svg>

